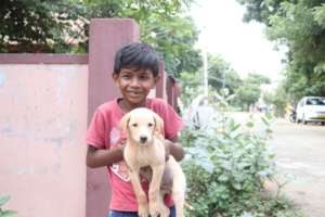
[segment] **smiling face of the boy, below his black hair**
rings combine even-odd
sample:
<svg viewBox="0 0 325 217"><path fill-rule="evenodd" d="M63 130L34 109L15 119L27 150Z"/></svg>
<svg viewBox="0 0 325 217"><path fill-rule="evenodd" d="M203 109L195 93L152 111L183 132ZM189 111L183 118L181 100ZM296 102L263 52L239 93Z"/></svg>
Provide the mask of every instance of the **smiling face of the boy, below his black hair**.
<svg viewBox="0 0 325 217"><path fill-rule="evenodd" d="M130 107L145 105L146 97L159 80L150 69L121 68L119 75L113 74L123 100Z"/></svg>

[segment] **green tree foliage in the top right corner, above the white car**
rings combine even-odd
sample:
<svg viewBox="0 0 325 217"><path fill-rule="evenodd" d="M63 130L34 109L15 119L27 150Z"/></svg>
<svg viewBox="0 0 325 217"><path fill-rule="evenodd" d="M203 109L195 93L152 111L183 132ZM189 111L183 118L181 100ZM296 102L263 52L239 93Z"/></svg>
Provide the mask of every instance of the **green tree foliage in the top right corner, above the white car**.
<svg viewBox="0 0 325 217"><path fill-rule="evenodd" d="M285 89L297 101L325 95L325 3L323 0L237 0L244 21L266 25L266 36L288 48Z"/></svg>

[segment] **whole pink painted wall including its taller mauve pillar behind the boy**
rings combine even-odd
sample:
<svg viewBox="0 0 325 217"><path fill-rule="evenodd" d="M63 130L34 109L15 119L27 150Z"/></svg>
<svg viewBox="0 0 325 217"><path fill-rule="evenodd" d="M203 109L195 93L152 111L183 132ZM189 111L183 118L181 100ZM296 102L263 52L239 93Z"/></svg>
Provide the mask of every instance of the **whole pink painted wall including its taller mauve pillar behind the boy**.
<svg viewBox="0 0 325 217"><path fill-rule="evenodd" d="M139 40L129 18L91 21L88 55L0 54L0 195L20 217L104 217L106 168L86 167L88 122L119 97L115 52ZM161 64L161 66L164 66ZM167 99L166 75L152 97Z"/></svg>

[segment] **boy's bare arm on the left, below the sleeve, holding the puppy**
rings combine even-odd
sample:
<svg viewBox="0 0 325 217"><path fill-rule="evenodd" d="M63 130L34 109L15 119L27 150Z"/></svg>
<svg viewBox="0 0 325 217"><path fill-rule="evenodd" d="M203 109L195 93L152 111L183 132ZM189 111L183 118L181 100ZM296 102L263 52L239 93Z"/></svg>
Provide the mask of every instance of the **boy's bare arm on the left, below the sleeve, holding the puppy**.
<svg viewBox="0 0 325 217"><path fill-rule="evenodd" d="M88 145L86 164L91 168L96 168L120 162L123 159L122 149L122 145L117 145L110 150L100 150L93 145Z"/></svg>

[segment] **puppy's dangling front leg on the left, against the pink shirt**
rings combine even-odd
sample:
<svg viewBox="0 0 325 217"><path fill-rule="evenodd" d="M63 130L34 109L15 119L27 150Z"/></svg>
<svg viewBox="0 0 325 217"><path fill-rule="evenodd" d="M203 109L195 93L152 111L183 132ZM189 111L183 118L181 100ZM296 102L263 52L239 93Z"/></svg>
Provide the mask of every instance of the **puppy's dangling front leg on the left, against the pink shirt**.
<svg viewBox="0 0 325 217"><path fill-rule="evenodd" d="M139 204L138 215L140 217L148 217L147 199L146 199L146 194L143 191L141 182L140 182L139 170L129 171L129 176L130 176L131 183L132 183L133 190L134 190L134 194L136 196L136 201Z"/></svg>

